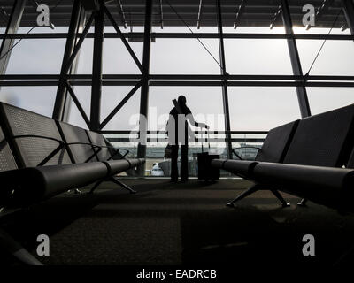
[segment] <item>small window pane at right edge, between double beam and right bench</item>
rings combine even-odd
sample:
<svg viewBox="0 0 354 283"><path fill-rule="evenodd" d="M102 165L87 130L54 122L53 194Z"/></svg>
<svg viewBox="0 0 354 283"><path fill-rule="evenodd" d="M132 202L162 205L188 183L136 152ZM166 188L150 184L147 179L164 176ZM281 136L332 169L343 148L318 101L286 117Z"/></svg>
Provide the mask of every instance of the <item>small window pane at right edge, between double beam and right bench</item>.
<svg viewBox="0 0 354 283"><path fill-rule="evenodd" d="M353 88L306 88L312 115L354 103Z"/></svg>

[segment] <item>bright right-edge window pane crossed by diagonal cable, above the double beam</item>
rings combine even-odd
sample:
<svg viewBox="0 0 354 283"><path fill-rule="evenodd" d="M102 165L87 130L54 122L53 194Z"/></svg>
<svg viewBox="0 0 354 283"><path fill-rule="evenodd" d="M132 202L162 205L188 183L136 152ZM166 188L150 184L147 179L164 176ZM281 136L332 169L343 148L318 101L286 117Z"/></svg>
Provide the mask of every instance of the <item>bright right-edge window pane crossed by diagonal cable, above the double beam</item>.
<svg viewBox="0 0 354 283"><path fill-rule="evenodd" d="M296 40L303 73L307 73L323 41ZM313 75L354 75L354 43L327 41L312 66Z"/></svg>

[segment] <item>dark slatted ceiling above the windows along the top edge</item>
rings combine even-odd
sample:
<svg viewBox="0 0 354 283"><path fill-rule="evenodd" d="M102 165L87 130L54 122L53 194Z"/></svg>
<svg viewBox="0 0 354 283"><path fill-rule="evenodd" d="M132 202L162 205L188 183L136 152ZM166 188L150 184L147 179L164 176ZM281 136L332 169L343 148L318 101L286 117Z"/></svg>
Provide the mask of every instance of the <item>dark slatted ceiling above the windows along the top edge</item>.
<svg viewBox="0 0 354 283"><path fill-rule="evenodd" d="M33 27L38 15L37 4L48 4L50 21L56 27L68 27L73 0L27 0L20 27ZM144 0L108 0L105 1L113 18L121 26L143 26L145 15ZM6 18L12 10L13 0L0 3L0 27L5 27ZM345 25L341 0L289 0L289 10L294 26L303 26L302 19L305 4L316 8L316 27L335 27ZM222 0L221 12L225 27L271 27L282 26L279 0ZM178 14L176 14L176 12ZM340 15L337 18L338 13ZM152 26L181 27L217 27L217 9L215 0L154 0ZM109 21L106 22L110 26Z"/></svg>

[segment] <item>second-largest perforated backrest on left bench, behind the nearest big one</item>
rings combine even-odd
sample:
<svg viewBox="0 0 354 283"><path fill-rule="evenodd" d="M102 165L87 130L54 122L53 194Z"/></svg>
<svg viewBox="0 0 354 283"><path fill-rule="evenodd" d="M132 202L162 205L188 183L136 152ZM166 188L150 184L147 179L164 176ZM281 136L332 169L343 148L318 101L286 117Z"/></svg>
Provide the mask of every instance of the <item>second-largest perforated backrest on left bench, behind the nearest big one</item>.
<svg viewBox="0 0 354 283"><path fill-rule="evenodd" d="M67 124L65 122L57 122L59 132L62 134L63 140L67 143L80 142L81 144L69 144L67 149L73 157L74 163L85 163L87 161L97 161L95 151L90 145L86 130L79 127ZM92 158L90 158L92 157Z"/></svg>

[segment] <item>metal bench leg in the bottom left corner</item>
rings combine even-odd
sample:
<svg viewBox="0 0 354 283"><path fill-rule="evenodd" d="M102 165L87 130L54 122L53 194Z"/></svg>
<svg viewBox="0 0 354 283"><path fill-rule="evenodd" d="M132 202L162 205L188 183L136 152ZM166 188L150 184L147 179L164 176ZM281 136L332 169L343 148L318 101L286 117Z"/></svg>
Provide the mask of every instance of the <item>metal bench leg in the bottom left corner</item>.
<svg viewBox="0 0 354 283"><path fill-rule="evenodd" d="M14 241L10 235L0 230L0 247L7 250L20 263L26 265L42 265L42 263L32 256L27 249L24 249L17 241Z"/></svg>

